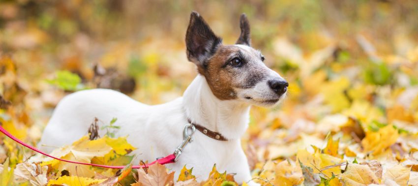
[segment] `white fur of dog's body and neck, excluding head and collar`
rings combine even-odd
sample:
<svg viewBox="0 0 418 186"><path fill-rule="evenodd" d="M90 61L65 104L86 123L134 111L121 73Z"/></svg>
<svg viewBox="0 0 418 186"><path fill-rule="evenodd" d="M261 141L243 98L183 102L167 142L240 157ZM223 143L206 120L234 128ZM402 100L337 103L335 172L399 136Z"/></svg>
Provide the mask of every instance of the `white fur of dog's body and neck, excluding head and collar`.
<svg viewBox="0 0 418 186"><path fill-rule="evenodd" d="M238 183L248 182L251 180L250 170L240 137L247 128L249 107L242 101L217 99L201 75L193 80L183 97L154 106L112 90L80 91L60 101L38 147L51 152L54 149L51 146L68 145L87 135L94 117L104 124L116 117L115 125L121 126L116 135L127 135L128 142L138 148L131 153L138 155L135 159L135 164L138 164L140 159L153 161L156 157L173 153L182 142L182 128L189 117L230 140L214 140L196 130L194 141L184 148L178 162L167 165L176 171L175 176L186 164L187 168L194 167L193 174L198 181L206 180L216 163L220 172L236 173ZM105 131L99 134L103 136Z"/></svg>

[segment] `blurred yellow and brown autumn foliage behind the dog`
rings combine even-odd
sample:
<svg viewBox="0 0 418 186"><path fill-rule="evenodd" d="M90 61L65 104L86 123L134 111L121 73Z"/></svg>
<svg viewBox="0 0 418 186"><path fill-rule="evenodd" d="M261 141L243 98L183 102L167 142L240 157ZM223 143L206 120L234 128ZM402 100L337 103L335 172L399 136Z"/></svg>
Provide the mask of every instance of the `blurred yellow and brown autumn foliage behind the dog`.
<svg viewBox="0 0 418 186"><path fill-rule="evenodd" d="M226 44L246 13L253 47L290 82L280 109L251 111L244 141L257 149L254 163L337 133L344 122L335 114L363 130L417 124L414 0L1 0L0 90L19 116L16 130L29 128L35 142L60 98L76 90L111 88L149 104L181 96L196 75L184 43L192 10Z"/></svg>

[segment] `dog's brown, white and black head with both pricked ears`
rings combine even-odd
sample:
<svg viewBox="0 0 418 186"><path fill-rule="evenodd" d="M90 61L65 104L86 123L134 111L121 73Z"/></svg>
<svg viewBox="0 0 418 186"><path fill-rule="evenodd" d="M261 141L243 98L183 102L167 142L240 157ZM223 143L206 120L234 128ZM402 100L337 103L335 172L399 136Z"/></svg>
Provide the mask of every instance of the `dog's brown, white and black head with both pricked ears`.
<svg viewBox="0 0 418 186"><path fill-rule="evenodd" d="M224 45L199 13L192 12L186 33L187 59L197 65L220 100L272 106L286 95L289 84L264 64L260 51L251 47L245 14L240 17L239 27L237 43Z"/></svg>

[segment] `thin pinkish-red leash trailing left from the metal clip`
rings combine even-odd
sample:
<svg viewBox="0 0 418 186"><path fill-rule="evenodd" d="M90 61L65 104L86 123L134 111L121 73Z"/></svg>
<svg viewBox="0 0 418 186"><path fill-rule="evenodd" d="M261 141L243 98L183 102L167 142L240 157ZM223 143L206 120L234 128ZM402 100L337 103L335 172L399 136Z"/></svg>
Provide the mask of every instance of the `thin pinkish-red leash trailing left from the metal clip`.
<svg viewBox="0 0 418 186"><path fill-rule="evenodd" d="M93 163L76 162L76 161L70 161L70 160L66 160L66 159L61 159L61 158L58 158L58 157L54 157L52 155L48 155L48 154L42 152L39 149L36 149L35 147L32 147L32 146L26 144L25 142L21 141L20 139L17 139L15 136L13 136L12 134L10 134L10 132L8 132L6 129L4 129L1 126L1 123L0 123L0 131L3 134L5 134L7 137L9 137L10 139L14 140L15 142L20 143L21 145L23 145L23 146L31 149L32 151L35 151L35 152L40 153L42 155L46 155L48 157L52 157L54 159L58 159L60 161L65 161L65 162L68 162L68 163L82 164L82 165L91 165L91 166L95 166L95 167L111 168L111 169L123 169L124 168L124 166L98 165L98 164L93 164ZM175 162L174 161L175 158L176 158L176 155L175 154L171 154L171 155L167 155L167 156L165 156L165 157L163 157L161 159L157 159L155 161L152 161L152 162L150 162L148 164L145 164L145 165L133 165L132 168L133 169L145 168L145 167L149 167L149 165L152 165L152 164L155 164L155 163L159 163L161 165L168 164L168 163L174 163Z"/></svg>

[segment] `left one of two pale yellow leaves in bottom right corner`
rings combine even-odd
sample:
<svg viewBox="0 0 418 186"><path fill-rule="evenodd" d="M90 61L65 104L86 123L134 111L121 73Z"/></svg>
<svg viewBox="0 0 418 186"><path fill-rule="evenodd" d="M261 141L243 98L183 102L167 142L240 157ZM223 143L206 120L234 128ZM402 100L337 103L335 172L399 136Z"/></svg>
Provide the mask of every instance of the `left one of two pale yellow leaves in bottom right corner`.
<svg viewBox="0 0 418 186"><path fill-rule="evenodd" d="M347 171L341 174L340 178L345 186L379 184L379 179L367 165L349 164Z"/></svg>

